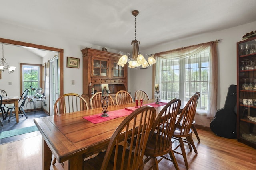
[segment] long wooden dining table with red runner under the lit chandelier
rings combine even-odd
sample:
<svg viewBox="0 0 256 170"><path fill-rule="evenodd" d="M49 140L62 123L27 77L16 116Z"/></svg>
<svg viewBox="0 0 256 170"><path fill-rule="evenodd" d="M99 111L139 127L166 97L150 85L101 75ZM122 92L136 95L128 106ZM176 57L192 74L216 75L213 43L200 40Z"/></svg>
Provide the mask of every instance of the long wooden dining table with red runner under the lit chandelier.
<svg viewBox="0 0 256 170"><path fill-rule="evenodd" d="M156 109L156 117L170 100L156 105L154 99L143 101L143 106ZM182 103L181 108L184 107ZM114 105L107 108L109 117L101 117L102 108L52 115L34 119L42 134L43 170L49 170L52 155L64 170L82 170L84 158L108 147L115 129L135 110L136 103ZM140 107L140 106L139 106Z"/></svg>

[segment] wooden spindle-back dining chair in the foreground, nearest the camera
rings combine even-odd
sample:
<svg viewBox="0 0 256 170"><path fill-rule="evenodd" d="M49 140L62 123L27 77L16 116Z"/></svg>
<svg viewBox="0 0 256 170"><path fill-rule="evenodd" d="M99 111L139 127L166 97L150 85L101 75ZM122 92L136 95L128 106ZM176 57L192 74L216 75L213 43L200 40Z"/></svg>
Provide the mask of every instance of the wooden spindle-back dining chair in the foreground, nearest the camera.
<svg viewBox="0 0 256 170"><path fill-rule="evenodd" d="M116 128L110 138L106 152L84 162L84 169L90 170L143 170L143 156L148 135L156 117L156 109L142 106L128 115ZM136 138L140 135L140 138ZM127 147L130 138L135 147ZM122 145L121 145L122 144Z"/></svg>

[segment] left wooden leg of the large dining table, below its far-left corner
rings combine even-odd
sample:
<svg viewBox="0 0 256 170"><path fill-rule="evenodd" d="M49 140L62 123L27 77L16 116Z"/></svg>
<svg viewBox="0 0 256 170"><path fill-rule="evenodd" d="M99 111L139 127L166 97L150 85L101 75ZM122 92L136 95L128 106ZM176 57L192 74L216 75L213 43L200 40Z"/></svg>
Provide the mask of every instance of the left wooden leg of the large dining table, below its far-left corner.
<svg viewBox="0 0 256 170"><path fill-rule="evenodd" d="M52 151L42 137L43 170L49 170L52 162Z"/></svg>

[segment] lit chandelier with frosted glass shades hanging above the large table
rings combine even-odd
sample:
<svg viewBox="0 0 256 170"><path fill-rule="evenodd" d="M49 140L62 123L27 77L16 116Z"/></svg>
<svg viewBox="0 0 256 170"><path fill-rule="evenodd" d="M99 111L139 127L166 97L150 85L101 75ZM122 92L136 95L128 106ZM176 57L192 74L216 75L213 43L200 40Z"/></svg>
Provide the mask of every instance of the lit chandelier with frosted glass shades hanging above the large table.
<svg viewBox="0 0 256 170"><path fill-rule="evenodd" d="M139 44L140 41L136 40L136 16L139 14L139 12L137 10L132 11L132 15L135 18L135 40L132 41L131 45L132 45L132 58L130 58L130 54L127 53L127 55L123 55L122 57L120 57L119 61L118 61L118 65L121 67L124 67L124 64L129 63L129 68L137 68L139 66L142 65L143 68L148 67L149 65L152 66L153 64L156 63L156 60L152 57L149 56L148 57L148 62L146 61L146 59L144 58L144 56L142 54L140 54L139 51ZM128 59L129 57L129 59Z"/></svg>

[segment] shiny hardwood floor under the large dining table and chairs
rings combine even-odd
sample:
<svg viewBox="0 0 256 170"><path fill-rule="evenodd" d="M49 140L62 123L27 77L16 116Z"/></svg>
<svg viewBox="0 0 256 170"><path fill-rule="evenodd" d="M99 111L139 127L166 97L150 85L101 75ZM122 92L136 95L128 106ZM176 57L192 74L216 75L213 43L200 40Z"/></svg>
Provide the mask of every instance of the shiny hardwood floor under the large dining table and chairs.
<svg viewBox="0 0 256 170"><path fill-rule="evenodd" d="M198 150L186 149L190 170L255 170L256 149L248 147L236 139L226 139L214 135L211 131L197 130L201 139ZM186 144L185 144L186 145ZM186 170L181 155L175 154L180 170ZM148 169L148 162L144 169ZM63 169L56 163L51 170ZM172 162L162 160L160 170L175 169ZM0 170L42 170L42 136L30 137L12 143L0 145Z"/></svg>

